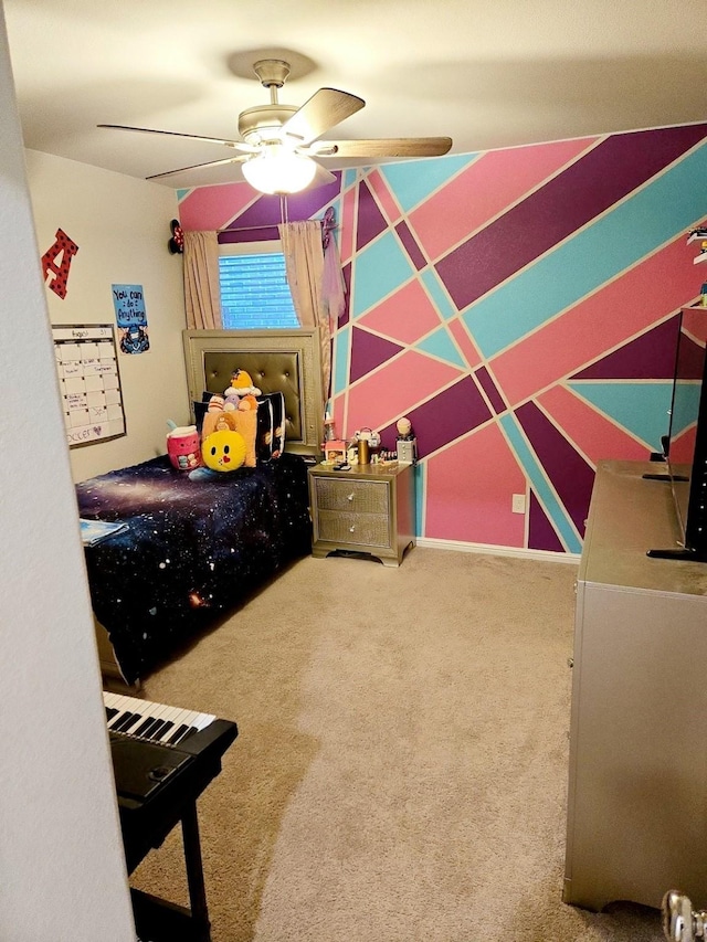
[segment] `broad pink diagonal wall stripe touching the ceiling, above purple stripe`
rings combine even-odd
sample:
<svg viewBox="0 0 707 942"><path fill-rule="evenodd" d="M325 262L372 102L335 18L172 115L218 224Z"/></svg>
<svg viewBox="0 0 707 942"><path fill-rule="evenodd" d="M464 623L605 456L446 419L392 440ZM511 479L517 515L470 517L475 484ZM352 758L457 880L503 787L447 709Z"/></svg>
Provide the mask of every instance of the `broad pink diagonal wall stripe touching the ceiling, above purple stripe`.
<svg viewBox="0 0 707 942"><path fill-rule="evenodd" d="M486 154L413 210L409 215L410 227L434 261L599 139L563 140ZM513 254L511 245L508 252Z"/></svg>

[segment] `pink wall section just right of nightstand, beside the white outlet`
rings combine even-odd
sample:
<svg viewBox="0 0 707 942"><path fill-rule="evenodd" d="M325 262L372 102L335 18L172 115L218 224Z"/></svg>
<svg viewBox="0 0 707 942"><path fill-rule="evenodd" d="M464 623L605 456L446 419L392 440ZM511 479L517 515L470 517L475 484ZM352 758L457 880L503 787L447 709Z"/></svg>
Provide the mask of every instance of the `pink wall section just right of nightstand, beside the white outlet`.
<svg viewBox="0 0 707 942"><path fill-rule="evenodd" d="M524 516L511 512L509 495L525 494L526 479L496 423L430 458L426 479L434 500L428 500L425 537L524 546Z"/></svg>

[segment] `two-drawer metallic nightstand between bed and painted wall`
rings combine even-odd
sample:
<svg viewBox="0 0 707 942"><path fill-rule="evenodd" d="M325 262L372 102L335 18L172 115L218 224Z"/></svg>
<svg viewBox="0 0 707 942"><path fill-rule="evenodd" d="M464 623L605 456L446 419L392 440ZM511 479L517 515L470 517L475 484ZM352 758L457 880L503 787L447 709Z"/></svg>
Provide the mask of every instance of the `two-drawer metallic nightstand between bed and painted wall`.
<svg viewBox="0 0 707 942"><path fill-rule="evenodd" d="M365 554L400 565L415 541L414 468L407 464L309 468L312 553Z"/></svg>

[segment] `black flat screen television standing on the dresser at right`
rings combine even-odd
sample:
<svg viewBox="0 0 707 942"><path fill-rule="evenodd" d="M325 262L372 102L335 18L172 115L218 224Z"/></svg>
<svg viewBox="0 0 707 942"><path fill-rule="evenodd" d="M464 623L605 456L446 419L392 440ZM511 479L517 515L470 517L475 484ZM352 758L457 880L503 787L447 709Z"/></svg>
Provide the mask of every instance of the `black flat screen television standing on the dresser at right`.
<svg viewBox="0 0 707 942"><path fill-rule="evenodd" d="M654 549L661 559L707 562L707 308L679 317L668 434L663 438L678 541ZM648 475L650 477L650 475Z"/></svg>

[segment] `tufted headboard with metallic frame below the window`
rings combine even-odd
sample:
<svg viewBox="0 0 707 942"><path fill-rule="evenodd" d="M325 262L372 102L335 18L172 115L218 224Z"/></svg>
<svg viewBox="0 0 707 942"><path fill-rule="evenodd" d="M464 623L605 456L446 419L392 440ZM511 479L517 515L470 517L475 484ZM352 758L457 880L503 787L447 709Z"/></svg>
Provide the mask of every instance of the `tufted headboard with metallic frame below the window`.
<svg viewBox="0 0 707 942"><path fill-rule="evenodd" d="M191 401L223 393L233 370L245 370L263 393L285 395L285 451L319 456L325 402L316 330L184 330L183 341Z"/></svg>

